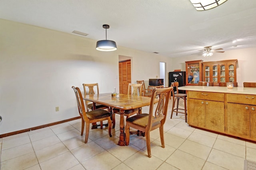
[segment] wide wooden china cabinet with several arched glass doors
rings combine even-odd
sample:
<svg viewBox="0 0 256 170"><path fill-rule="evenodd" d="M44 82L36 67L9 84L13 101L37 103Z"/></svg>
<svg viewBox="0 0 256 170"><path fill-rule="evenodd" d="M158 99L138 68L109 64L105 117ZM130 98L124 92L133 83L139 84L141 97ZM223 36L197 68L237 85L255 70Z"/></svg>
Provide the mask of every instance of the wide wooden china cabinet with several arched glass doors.
<svg viewBox="0 0 256 170"><path fill-rule="evenodd" d="M236 82L236 63L237 59L202 62L203 81L213 81L214 86L220 82Z"/></svg>

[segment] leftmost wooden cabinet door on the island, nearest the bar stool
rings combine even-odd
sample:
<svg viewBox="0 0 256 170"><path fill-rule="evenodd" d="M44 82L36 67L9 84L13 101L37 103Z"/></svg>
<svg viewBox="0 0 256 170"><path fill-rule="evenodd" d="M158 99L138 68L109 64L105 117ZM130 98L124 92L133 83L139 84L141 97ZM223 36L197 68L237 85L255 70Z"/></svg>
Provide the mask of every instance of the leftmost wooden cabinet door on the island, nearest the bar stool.
<svg viewBox="0 0 256 170"><path fill-rule="evenodd" d="M205 127L204 100L188 98L188 124L196 127ZM190 114L191 113L191 114Z"/></svg>

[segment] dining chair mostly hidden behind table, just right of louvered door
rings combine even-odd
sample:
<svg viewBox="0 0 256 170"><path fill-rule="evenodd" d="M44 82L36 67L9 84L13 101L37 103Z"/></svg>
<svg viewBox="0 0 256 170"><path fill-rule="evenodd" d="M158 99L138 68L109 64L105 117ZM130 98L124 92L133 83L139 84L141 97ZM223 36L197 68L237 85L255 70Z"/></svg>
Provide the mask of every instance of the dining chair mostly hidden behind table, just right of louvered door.
<svg viewBox="0 0 256 170"><path fill-rule="evenodd" d="M140 95L142 94L142 84L132 84L129 83L128 85L128 95ZM129 110L125 110L124 111L124 116L126 116L126 119L129 118L132 115L138 114L139 113L139 109L129 109ZM121 114L119 109L113 109L112 111L112 121L113 121L113 128L115 128L116 125L116 118L115 115L116 114Z"/></svg>

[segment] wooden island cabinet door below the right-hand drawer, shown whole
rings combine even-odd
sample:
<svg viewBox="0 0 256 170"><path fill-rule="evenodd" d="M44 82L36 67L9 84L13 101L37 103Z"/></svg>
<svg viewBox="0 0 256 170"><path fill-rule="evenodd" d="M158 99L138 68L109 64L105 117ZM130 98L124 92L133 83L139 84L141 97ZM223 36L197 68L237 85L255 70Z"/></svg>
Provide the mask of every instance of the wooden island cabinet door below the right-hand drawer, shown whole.
<svg viewBox="0 0 256 170"><path fill-rule="evenodd" d="M226 132L242 138L250 138L250 105L227 103Z"/></svg>

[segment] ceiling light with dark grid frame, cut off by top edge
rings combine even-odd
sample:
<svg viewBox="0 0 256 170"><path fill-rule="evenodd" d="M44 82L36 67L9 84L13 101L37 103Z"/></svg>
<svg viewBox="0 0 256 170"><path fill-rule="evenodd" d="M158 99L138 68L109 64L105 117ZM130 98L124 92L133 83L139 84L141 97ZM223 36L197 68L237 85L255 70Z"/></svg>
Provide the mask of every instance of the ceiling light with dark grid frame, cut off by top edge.
<svg viewBox="0 0 256 170"><path fill-rule="evenodd" d="M190 2L198 11L210 10L212 8L220 6L226 1L227 0L190 0Z"/></svg>

